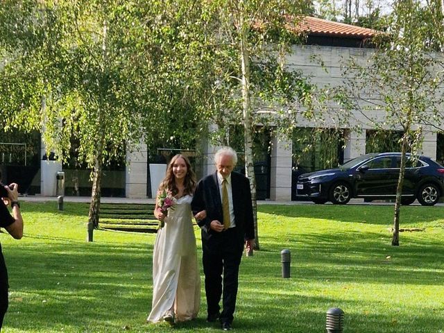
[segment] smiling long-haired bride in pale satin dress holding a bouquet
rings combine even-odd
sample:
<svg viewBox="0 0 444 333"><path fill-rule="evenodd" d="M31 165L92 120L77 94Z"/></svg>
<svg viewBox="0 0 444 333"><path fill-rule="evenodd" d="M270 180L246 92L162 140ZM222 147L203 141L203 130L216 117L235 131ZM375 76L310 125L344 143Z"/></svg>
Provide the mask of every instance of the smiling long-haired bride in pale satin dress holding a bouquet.
<svg viewBox="0 0 444 333"><path fill-rule="evenodd" d="M164 221L157 232L153 251L153 307L147 321L189 321L200 308L200 275L191 199L196 180L189 160L176 155L167 167L159 190L169 190L176 204L164 214L156 203L155 216ZM196 214L205 218L206 212ZM167 216L166 216L167 215Z"/></svg>

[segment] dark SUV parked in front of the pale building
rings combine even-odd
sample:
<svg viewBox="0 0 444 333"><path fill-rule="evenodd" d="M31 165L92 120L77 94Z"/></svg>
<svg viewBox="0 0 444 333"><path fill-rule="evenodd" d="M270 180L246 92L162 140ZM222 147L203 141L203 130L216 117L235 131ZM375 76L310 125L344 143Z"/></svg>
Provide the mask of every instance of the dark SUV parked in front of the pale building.
<svg viewBox="0 0 444 333"><path fill-rule="evenodd" d="M401 153L370 153L356 157L338 169L299 176L296 196L314 203L331 201L344 205L351 198L368 200L395 198L400 175ZM444 167L429 157L407 154L401 203L418 199L432 206L444 193Z"/></svg>

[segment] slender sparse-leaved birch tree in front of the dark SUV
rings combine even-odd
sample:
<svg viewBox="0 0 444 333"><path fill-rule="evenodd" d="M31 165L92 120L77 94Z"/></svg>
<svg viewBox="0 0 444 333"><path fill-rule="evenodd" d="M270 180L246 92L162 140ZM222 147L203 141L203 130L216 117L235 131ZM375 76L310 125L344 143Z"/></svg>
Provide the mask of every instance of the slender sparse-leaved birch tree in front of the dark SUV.
<svg viewBox="0 0 444 333"><path fill-rule="evenodd" d="M346 94L357 101L353 108L361 110L371 126L403 133L393 246L399 245L406 153L418 152L425 124L436 123L443 105L443 55L436 53L437 32L443 26L433 24L433 17L434 11L421 1L396 1L387 33L375 40L378 48L366 64L352 61L352 70L345 73L351 77Z"/></svg>

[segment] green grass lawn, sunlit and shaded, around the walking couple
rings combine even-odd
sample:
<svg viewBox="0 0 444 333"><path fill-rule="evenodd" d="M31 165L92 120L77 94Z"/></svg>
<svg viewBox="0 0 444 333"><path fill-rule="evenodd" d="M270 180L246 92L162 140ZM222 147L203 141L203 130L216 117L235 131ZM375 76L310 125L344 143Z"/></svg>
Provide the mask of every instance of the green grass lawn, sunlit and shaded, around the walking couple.
<svg viewBox="0 0 444 333"><path fill-rule="evenodd" d="M0 234L10 275L5 333L219 332L205 322L205 293L191 323L145 322L155 234L96 230L85 205L22 203L25 237ZM402 207L391 246L391 206L260 205L261 250L244 257L234 332L325 332L330 307L347 333L444 332L444 209ZM198 255L200 257L200 234ZM280 251L291 250L291 278ZM203 273L201 274L203 278Z"/></svg>

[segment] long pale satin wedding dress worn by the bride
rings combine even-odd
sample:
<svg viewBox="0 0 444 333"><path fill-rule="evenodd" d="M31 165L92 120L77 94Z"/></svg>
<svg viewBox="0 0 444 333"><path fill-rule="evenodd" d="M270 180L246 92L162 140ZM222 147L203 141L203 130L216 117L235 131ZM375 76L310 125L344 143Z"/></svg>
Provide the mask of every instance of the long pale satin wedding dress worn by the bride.
<svg viewBox="0 0 444 333"><path fill-rule="evenodd" d="M147 321L157 323L174 305L176 321L196 318L200 307L191 199L179 198L157 232L153 253L153 307Z"/></svg>

